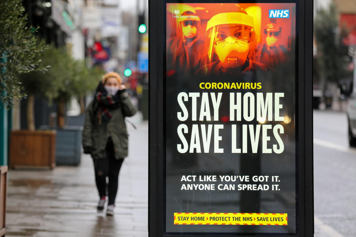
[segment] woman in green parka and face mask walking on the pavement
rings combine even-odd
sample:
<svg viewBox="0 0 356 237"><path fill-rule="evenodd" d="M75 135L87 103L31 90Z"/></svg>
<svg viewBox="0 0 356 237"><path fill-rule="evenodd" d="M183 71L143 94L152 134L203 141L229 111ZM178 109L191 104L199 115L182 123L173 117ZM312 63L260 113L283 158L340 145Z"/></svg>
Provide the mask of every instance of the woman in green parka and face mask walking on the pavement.
<svg viewBox="0 0 356 237"><path fill-rule="evenodd" d="M103 211L108 196L106 215L114 215L119 172L127 156L128 134L125 117L136 113L129 94L116 72L103 76L94 99L85 111L83 149L94 161L95 183L99 192L98 211ZM108 185L106 177L109 178Z"/></svg>

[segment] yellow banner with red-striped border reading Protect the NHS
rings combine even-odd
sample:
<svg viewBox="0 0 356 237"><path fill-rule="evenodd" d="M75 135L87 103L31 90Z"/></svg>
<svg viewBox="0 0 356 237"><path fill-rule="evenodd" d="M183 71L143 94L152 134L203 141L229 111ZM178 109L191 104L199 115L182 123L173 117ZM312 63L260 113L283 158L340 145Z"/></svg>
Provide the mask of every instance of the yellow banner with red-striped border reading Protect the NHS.
<svg viewBox="0 0 356 237"><path fill-rule="evenodd" d="M286 213L174 213L174 225L282 225Z"/></svg>

